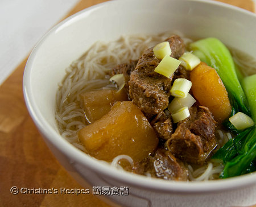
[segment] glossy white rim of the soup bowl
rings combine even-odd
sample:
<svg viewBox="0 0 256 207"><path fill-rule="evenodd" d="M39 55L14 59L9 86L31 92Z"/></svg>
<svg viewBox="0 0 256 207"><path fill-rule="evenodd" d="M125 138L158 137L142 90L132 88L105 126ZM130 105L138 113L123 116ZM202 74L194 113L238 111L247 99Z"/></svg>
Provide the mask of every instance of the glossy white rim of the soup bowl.
<svg viewBox="0 0 256 207"><path fill-rule="evenodd" d="M24 100L28 112L31 115L36 127L43 134L44 139L47 139L48 142L53 144L59 151L68 157L69 160L77 162L81 165L89 167L93 171L96 171L98 175L107 176L115 180L121 181L124 184L133 185L139 188L146 188L148 190L158 190L159 192L183 192L183 193L209 193L215 191L225 191L232 188L246 187L256 184L256 172L232 177L225 180L213 180L213 181L167 181L163 179L151 179L146 176L136 175L129 172L118 171L114 169L109 164L105 164L95 158L90 157L84 152L80 151L78 148L73 146L67 140L65 140L57 131L55 131L47 120L40 113L40 110L36 106L35 99L32 94L32 85L31 85L31 68L36 56L36 53L40 49L40 45L44 43L44 40L47 39L49 35L55 33L58 28L63 26L65 23L80 19L82 14L89 13L94 9L99 9L108 4L115 4L121 1L131 1L131 0L112 0L97 5L88 7L84 10L79 11L76 14L69 16L67 19L64 19L58 23L55 27L49 30L36 44L35 48L32 50L30 56L28 57L27 64L24 70L23 76L23 94ZM132 0L137 1L137 0ZM174 0L176 1L176 0ZM247 11L245 9L238 8L236 6L228 5L222 2L216 1L206 1L206 0L182 0L184 2L200 2L208 5L216 5L224 7L225 9L231 9L238 13L244 13L245 15L252 15L256 20L256 14ZM46 130L47 129L47 130ZM81 175L82 176L82 175Z"/></svg>

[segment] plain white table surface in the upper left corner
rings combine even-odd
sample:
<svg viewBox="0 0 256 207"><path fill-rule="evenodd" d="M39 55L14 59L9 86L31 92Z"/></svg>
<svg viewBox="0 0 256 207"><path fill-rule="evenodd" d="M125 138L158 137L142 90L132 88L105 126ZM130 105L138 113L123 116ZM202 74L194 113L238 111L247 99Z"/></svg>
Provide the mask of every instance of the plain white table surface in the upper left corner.
<svg viewBox="0 0 256 207"><path fill-rule="evenodd" d="M29 55L40 38L78 2L0 0L0 85Z"/></svg>

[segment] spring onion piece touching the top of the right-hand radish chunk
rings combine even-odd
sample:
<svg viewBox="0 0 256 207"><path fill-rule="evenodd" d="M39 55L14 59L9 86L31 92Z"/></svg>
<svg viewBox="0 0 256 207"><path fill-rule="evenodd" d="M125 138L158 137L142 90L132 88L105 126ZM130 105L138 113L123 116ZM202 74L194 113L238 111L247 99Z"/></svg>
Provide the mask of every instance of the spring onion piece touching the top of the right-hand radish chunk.
<svg viewBox="0 0 256 207"><path fill-rule="evenodd" d="M187 70L192 71L199 63L201 63L199 57L195 56L191 52L184 52L183 55L180 56L179 60L181 61L181 65Z"/></svg>

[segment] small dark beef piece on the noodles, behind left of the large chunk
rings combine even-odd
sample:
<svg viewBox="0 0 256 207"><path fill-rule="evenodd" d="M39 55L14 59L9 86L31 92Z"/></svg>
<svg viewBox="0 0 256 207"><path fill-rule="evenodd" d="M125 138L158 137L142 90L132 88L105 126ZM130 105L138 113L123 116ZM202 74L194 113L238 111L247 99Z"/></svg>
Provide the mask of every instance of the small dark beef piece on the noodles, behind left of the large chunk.
<svg viewBox="0 0 256 207"><path fill-rule="evenodd" d="M111 71L106 72L106 74L108 74L109 76L114 76L115 74L123 74L123 76L125 77L125 88L129 93L128 82L130 80L130 74L132 71L134 71L137 63L138 63L138 60L130 60L129 63L123 63L123 64L117 65Z"/></svg>

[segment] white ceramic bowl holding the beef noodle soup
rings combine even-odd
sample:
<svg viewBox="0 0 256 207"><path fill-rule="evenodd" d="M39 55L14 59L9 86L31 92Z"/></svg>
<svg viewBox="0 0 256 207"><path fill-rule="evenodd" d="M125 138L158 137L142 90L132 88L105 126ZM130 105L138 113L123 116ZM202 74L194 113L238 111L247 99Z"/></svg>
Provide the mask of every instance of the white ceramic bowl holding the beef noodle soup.
<svg viewBox="0 0 256 207"><path fill-rule="evenodd" d="M256 57L256 15L214 1L119 0L81 11L49 31L32 51L24 72L24 97L31 117L57 160L86 187L129 187L110 196L126 206L241 206L256 203L256 173L226 180L175 182L117 171L64 140L55 122L57 84L65 68L97 40L122 34L178 30L214 36ZM90 192L92 193L92 192ZM103 198L104 196L102 196Z"/></svg>

